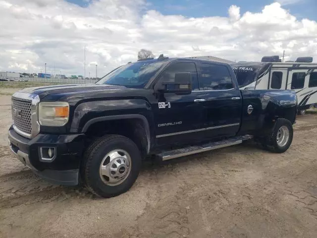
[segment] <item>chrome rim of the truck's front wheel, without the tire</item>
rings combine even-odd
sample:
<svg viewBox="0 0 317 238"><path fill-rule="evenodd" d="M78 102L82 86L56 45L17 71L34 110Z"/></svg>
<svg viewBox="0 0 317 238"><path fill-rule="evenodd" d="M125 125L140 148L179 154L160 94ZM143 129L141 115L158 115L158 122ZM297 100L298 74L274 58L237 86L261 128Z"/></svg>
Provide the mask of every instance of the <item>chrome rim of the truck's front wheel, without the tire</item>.
<svg viewBox="0 0 317 238"><path fill-rule="evenodd" d="M121 149L112 150L106 154L100 164L100 178L109 186L122 183L130 174L131 157Z"/></svg>

